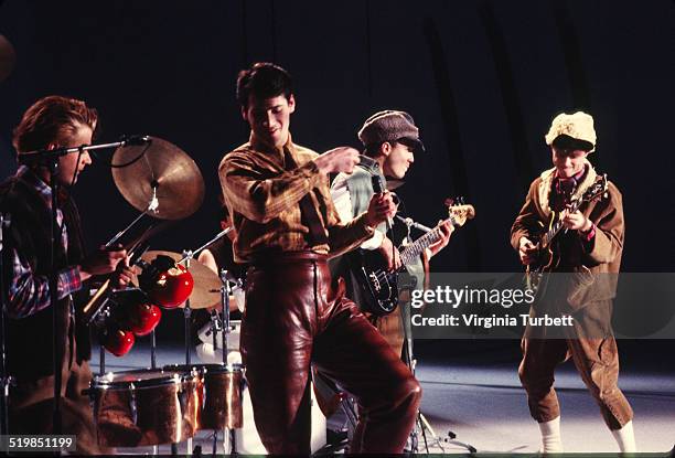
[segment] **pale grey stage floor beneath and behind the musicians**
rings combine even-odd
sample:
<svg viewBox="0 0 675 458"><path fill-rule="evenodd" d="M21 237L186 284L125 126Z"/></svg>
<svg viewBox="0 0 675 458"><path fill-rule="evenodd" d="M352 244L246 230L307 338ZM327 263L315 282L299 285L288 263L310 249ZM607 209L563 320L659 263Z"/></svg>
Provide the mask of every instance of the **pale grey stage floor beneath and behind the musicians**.
<svg viewBox="0 0 675 458"><path fill-rule="evenodd" d="M425 342L425 348L429 343ZM442 341L438 345L452 347ZM511 344L513 347L513 343ZM671 345L672 347L672 345ZM429 353L428 351L426 353ZM534 452L539 447L538 428L528 414L525 395L517 379L517 360L494 350L475 358L430 358L418 355L416 375L424 388L422 413L433 432L457 438L483 452ZM633 351L635 353L635 351ZM635 364L622 369L620 386L635 412L634 428L640 451L666 452L675 443L675 371L673 355L656 364ZM179 345L162 345L158 365L183 363ZM457 361L454 361L457 360ZM106 356L107 371L149 366L149 348L140 342L125 358ZM199 363L193 354L192 363ZM92 369L98 370L95 352ZM561 404L562 441L566 451L617 451L597 405L569 363L557 372L556 386ZM199 439L197 439L199 441ZM207 443L204 443L205 450ZM441 443L433 452L462 452L461 447ZM164 446L165 447L165 446ZM165 451L165 450L164 450Z"/></svg>

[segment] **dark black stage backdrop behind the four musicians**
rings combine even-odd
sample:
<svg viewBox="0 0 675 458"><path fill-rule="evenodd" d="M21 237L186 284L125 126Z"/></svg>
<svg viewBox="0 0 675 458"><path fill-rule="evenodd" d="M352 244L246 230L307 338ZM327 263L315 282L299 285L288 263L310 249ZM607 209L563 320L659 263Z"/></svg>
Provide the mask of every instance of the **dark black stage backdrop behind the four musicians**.
<svg viewBox="0 0 675 458"><path fill-rule="evenodd" d="M218 230L217 164L247 140L234 98L238 70L274 61L291 72L293 139L317 151L357 146L372 113L409 111L428 152L398 192L432 225L446 196L476 219L433 259L436 271L519 270L508 230L528 183L550 167L551 118L596 118L591 156L624 196L624 270L673 271L672 0L601 1L20 1L0 4L17 66L0 84L2 177L15 169L11 130L36 98L81 97L101 114L101 140L148 134L184 149L204 205L156 248L193 248ZM136 213L110 171L76 190L92 246Z"/></svg>

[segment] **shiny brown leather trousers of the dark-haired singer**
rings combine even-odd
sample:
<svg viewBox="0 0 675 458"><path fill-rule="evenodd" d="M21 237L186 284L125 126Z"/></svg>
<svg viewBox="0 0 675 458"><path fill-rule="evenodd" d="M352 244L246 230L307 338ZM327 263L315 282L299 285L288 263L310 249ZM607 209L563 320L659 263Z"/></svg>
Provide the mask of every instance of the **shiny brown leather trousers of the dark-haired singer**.
<svg viewBox="0 0 675 458"><path fill-rule="evenodd" d="M310 364L358 400L350 452L403 451L421 388L343 283L332 288L325 255L277 254L249 269L242 355L268 452L310 452Z"/></svg>

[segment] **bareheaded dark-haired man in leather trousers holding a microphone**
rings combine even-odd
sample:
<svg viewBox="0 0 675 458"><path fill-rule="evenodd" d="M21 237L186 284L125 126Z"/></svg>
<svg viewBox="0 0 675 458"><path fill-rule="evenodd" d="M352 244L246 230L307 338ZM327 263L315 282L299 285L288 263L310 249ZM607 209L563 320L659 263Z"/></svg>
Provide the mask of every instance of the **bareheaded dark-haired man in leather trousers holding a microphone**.
<svg viewBox="0 0 675 458"><path fill-rule="evenodd" d="M285 70L258 63L240 72L237 99L250 140L225 156L219 175L235 260L250 265L240 345L262 444L270 454L309 454L313 364L358 400L350 451L401 452L421 390L326 264L393 216L392 196L375 195L365 213L340 221L328 175L351 172L358 152L317 155L291 141L296 99Z"/></svg>

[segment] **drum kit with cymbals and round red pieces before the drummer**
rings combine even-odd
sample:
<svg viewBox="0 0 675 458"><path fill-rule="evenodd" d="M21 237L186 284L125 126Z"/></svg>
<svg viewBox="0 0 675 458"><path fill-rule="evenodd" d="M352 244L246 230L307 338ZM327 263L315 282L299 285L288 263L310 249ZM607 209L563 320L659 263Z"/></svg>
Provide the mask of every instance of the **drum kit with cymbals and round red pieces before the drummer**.
<svg viewBox="0 0 675 458"><path fill-rule="evenodd" d="M146 216L175 221L190 216L204 198L204 182L196 163L176 146L152 137L117 148L113 156L113 178L122 196L140 215L106 246L120 244ZM213 452L218 432L224 430L225 451L237 452L235 429L243 427L242 395L244 366L227 363L227 339L221 339L223 361L191 363L191 324L193 309L212 309L216 328L227 331L233 280L195 259L200 252L223 237L217 234L203 246L183 254L148 251L149 239L161 224L152 224L130 243L122 244L130 265L138 266L137 285L114 290L104 283L84 307L85 319L96 329L100 341L99 373L94 376L88 395L94 405L98 443L104 447L153 446L188 443L199 430L212 430ZM240 287L240 281L237 284ZM215 311L221 308L222 317ZM185 318L185 362L156 363L154 330L162 309L183 309ZM106 372L105 351L121 356L139 335L151 337L150 368ZM238 350L238 348L237 348Z"/></svg>

